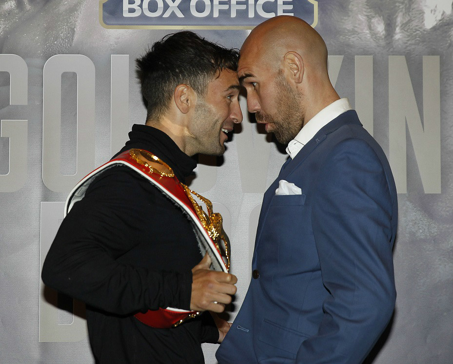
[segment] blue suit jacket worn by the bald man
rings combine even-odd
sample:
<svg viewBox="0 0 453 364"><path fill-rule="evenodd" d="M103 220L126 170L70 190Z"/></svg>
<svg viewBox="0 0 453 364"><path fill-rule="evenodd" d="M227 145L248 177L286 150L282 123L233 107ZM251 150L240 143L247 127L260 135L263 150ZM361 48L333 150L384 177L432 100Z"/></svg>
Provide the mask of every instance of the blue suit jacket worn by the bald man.
<svg viewBox="0 0 453 364"><path fill-rule="evenodd" d="M285 179L301 195L276 195ZM397 196L354 110L323 127L264 194L252 279L219 363L361 363L395 302Z"/></svg>

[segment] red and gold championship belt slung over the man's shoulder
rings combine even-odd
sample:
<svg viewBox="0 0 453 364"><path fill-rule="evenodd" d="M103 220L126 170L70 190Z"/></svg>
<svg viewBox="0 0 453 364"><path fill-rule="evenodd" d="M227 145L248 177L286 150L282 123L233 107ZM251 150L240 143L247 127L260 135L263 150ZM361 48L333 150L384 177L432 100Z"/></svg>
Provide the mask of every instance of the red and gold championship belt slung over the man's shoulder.
<svg viewBox="0 0 453 364"><path fill-rule="evenodd" d="M153 167L151 164L158 164L162 168ZM148 151L131 149L123 152L88 174L69 194L64 206L64 216L66 217L74 204L85 196L88 186L100 173L116 166L131 168L175 203L191 222L200 251L207 252L211 257L211 268L228 272L230 268L229 240L222 228L222 216L212 211L211 201L179 182L172 169ZM163 169L166 171L162 171ZM206 210L203 209L203 205ZM221 253L222 242L225 249L225 260ZM199 314L198 311L167 307L148 310L146 313L138 312L134 316L148 326L169 328L178 326Z"/></svg>

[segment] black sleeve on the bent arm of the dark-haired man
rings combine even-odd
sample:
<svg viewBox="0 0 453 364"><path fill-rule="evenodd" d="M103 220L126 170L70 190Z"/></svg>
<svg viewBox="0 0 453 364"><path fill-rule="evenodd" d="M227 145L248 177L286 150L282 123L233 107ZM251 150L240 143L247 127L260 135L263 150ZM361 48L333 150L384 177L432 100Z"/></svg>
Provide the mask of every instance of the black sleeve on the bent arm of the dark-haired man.
<svg viewBox="0 0 453 364"><path fill-rule="evenodd" d="M138 231L146 226L142 211L152 206L143 195L153 199L128 172L99 176L62 221L44 261L43 282L115 314L188 309L191 271L153 271L117 261L138 244Z"/></svg>

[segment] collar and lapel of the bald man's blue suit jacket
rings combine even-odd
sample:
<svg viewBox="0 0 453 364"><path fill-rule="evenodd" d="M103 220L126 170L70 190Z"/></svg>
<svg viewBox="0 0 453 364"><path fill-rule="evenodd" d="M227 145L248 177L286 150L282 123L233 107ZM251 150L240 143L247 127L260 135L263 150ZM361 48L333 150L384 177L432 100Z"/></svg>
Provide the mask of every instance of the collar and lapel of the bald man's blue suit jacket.
<svg viewBox="0 0 453 364"><path fill-rule="evenodd" d="M280 173L276 180L272 183L272 185L267 189L264 193L263 197L263 204L261 206L261 212L259 214L258 220L258 228L256 230L256 240L255 240L255 248L257 242L259 241L259 237L261 236L261 232L263 230L264 222L269 211L269 207L271 202L275 196L275 190L278 187L278 181L282 179L286 179L288 175L290 175L296 168L299 167L300 164L319 146L322 142L327 138L328 134L335 132L338 128L341 128L343 125L346 124L356 124L362 125L358 119L357 113L355 110L349 110L345 113L339 115L334 120L326 124L319 132L315 134L315 136L310 139L310 141L304 145L304 147L300 150L299 153L295 156L294 159L288 159L285 164L283 164ZM299 186L302 188L301 186Z"/></svg>

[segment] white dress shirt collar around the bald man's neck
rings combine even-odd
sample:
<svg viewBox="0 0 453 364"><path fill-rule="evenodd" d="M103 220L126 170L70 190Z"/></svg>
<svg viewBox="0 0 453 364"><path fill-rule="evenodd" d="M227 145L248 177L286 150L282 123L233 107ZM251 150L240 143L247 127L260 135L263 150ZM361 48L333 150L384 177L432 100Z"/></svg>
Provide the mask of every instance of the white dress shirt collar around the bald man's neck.
<svg viewBox="0 0 453 364"><path fill-rule="evenodd" d="M339 100L332 102L329 106L326 106L313 116L308 123L300 129L300 132L295 138L289 142L286 152L294 159L303 146L307 144L323 126L330 123L335 117L351 109L351 105L347 98L340 98Z"/></svg>

